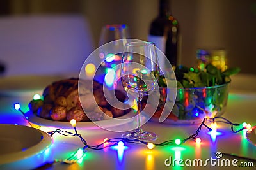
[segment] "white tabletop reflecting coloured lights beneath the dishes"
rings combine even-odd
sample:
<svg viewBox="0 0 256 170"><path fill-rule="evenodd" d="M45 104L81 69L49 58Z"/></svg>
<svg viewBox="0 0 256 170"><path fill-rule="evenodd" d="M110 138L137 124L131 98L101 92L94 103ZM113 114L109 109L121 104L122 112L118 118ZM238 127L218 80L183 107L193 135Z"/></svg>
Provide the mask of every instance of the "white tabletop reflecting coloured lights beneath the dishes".
<svg viewBox="0 0 256 170"><path fill-rule="evenodd" d="M248 122L256 125L256 76L247 74L238 74L232 77L230 87L230 95L228 98L227 111L223 117L228 118L232 122L243 123ZM34 89L33 92L40 92L40 89ZM28 92L23 96L1 96L0 97L0 123L4 124L19 124L28 125L20 114L12 109L12 104L15 101L22 101L26 105L32 99L32 92ZM27 109L25 106L23 109ZM7 118L12 117L12 118ZM128 124L127 124L128 125ZM198 125L168 125L159 124L157 122L147 122L143 125L143 129L156 132L158 139L156 143L161 143L169 139L184 139L195 133ZM48 127L41 127L43 131L49 131ZM68 130L68 131L73 131ZM109 132L102 129L96 130L80 130L79 134L90 145L98 145L102 143L104 138L119 138L122 133ZM182 145L167 145L157 146L153 150L148 150L146 145L136 145L125 143L124 148L104 148L103 150L88 149L83 159L80 159L77 164L61 164L60 162L53 164L47 169L227 169L225 166L207 167L189 167L182 166L166 166L170 163L166 159L214 159L215 152L234 153L243 157L256 158L256 147L250 144L245 138L245 132L234 134L230 131L230 126L226 124L218 124L218 131L221 133L212 139L208 134L207 128L202 128L199 136L202 143L196 144L195 141L189 140ZM77 148L83 147L80 139L77 137L64 137L59 134L54 134L52 146L47 150L48 159L65 159L70 154L74 153ZM223 155L222 159L234 159L227 155ZM250 162L248 160L239 159L240 162ZM244 169L255 169L256 162L253 162L254 167L246 167ZM232 169L234 166L231 166Z"/></svg>

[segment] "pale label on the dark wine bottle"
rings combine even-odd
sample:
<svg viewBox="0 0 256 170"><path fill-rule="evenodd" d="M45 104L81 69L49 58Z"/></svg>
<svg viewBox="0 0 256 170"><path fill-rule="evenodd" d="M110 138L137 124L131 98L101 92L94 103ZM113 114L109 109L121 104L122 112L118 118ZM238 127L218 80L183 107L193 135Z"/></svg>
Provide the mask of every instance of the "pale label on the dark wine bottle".
<svg viewBox="0 0 256 170"><path fill-rule="evenodd" d="M165 36L152 36L148 35L148 41L156 44L156 47L159 48L163 53L165 53L166 47L166 37ZM163 55L158 55L159 67L164 70L165 68L165 58Z"/></svg>

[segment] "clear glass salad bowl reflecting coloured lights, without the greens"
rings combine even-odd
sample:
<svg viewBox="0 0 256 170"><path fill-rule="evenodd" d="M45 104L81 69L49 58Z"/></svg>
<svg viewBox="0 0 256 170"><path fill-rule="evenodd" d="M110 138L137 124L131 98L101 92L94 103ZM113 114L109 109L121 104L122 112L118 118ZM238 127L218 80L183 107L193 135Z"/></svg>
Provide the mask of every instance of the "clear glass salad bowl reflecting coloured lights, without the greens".
<svg viewBox="0 0 256 170"><path fill-rule="evenodd" d="M229 83L212 87L177 88L173 109L164 123L177 125L200 124L204 118L223 115L227 108ZM166 88L160 87L160 101L152 120L159 121L166 103ZM166 103L168 104L168 103Z"/></svg>

